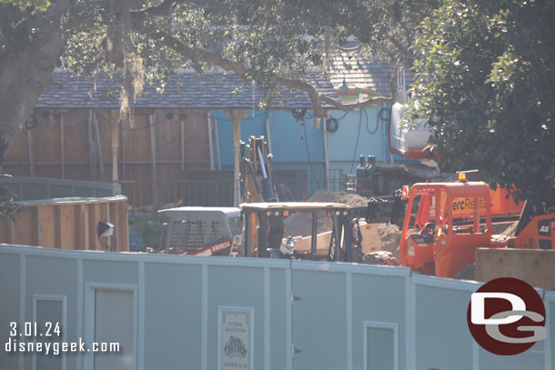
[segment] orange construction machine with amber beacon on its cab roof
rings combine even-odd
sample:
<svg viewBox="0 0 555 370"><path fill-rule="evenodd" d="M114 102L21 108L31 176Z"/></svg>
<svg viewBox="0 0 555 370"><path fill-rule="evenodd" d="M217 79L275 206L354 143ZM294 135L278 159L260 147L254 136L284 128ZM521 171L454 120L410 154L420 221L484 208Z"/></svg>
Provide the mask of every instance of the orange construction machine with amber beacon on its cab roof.
<svg viewBox="0 0 555 370"><path fill-rule="evenodd" d="M552 210L532 215L507 189L492 190L469 178L476 175L476 171L459 172L456 182L403 189L400 199L407 205L399 242L401 265L422 274L457 277L475 263L480 247L555 248ZM369 215L369 221L376 222ZM492 225L516 221L514 236L493 235Z"/></svg>

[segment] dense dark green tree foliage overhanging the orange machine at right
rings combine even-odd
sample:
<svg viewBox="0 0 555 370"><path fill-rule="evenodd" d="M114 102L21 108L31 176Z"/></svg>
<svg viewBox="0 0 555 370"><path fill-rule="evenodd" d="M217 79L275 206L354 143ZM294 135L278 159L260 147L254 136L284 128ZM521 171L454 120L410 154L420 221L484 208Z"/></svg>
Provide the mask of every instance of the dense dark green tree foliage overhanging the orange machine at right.
<svg viewBox="0 0 555 370"><path fill-rule="evenodd" d="M550 0L446 0L419 27L414 112L432 117L444 169L552 196L554 18Z"/></svg>

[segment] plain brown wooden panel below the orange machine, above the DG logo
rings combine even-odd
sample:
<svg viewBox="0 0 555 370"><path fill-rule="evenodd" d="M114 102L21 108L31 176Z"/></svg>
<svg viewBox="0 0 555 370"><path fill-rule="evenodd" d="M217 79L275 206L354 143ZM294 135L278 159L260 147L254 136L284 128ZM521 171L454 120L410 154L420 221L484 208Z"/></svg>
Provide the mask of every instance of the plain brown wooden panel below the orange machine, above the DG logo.
<svg viewBox="0 0 555 370"><path fill-rule="evenodd" d="M528 284L555 290L555 250L478 248L476 280L515 277Z"/></svg>

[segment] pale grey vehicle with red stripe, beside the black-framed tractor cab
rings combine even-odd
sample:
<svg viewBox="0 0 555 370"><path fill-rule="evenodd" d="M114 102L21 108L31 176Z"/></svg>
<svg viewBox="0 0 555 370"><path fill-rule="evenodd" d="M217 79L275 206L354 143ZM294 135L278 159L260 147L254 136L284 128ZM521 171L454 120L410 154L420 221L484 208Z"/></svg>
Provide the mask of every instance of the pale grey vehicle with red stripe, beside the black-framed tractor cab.
<svg viewBox="0 0 555 370"><path fill-rule="evenodd" d="M241 235L241 211L234 207L177 207L158 211L168 222L166 253L230 255L233 238Z"/></svg>

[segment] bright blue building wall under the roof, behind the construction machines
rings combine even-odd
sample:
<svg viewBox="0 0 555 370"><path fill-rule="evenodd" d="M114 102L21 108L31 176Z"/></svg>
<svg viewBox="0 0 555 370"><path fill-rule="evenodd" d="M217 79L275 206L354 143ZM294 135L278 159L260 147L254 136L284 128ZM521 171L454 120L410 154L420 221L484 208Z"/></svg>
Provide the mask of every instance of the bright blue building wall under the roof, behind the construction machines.
<svg viewBox="0 0 555 370"><path fill-rule="evenodd" d="M379 118L381 109L382 117ZM328 132L329 169L334 171L331 181L338 181L342 174L355 174L360 155L375 155L378 162L389 162L388 122L389 105L378 105L367 109L349 112L332 111L331 117L338 119L337 132ZM217 119L217 136L222 169L232 169L233 142L231 117L224 110L212 111ZM289 110L249 110L241 120L241 140L264 135L268 137L266 119L268 118L272 154L277 169L300 169L308 172L308 195L325 187L324 130L320 121L316 125L312 112L305 117L304 130ZM217 149L215 121L213 120L214 165L217 168ZM396 160L402 159L395 156ZM314 174L314 175L312 175ZM318 178L318 180L317 180Z"/></svg>

